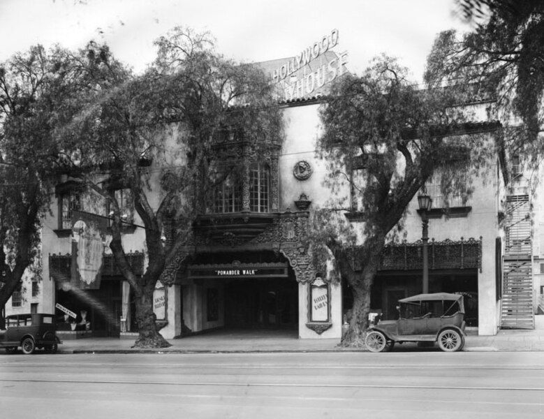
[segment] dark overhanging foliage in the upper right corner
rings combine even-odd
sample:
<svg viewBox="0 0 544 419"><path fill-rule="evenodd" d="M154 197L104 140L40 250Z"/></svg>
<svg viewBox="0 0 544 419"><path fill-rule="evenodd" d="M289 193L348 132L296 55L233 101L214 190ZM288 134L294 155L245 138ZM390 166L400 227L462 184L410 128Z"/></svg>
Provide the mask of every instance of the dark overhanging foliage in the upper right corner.
<svg viewBox="0 0 544 419"><path fill-rule="evenodd" d="M476 29L437 36L425 79L433 85L475 84L497 97L507 126L503 147L538 165L544 91L544 2L541 0L459 0ZM522 124L519 124L522 122Z"/></svg>

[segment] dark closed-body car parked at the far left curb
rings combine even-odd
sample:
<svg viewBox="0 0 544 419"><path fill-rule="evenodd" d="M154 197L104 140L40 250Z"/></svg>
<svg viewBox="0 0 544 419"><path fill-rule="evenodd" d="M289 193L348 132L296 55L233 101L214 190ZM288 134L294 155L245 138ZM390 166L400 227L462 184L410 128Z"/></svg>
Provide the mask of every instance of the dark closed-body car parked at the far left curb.
<svg viewBox="0 0 544 419"><path fill-rule="evenodd" d="M0 348L7 353L17 351L33 353L44 348L49 353L57 352L62 342L55 335L55 321L52 314L13 314L6 316L6 329L0 330Z"/></svg>

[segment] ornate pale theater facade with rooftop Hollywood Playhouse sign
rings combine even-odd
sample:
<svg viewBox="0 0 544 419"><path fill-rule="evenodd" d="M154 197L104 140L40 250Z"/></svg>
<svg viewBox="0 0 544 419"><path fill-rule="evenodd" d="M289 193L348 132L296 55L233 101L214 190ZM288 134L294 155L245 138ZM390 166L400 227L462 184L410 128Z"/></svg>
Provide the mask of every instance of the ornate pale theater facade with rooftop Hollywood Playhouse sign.
<svg viewBox="0 0 544 419"><path fill-rule="evenodd" d="M307 233L312 210L332 197L323 184L327 162L316 154L321 95L347 71L347 64L336 30L294 57L260 64L279 88L284 141L272 145L258 162L246 159L244 175L236 182L224 182L213 205L197 217L186 246L163 272L154 311L167 339L219 328L296 330L303 339L341 337L351 290L335 277L332 260L311 257ZM492 124L478 124L494 135ZM223 146L244 156L235 142ZM427 185L434 203L429 213L429 292L462 293L468 324L480 335L494 335L501 325L503 255L512 236L500 224L508 195L503 164L497 159L485 179L471 179L469 197L446 199L440 185ZM351 200L349 190L336 194ZM43 223L43 279L35 300L39 311L56 313L60 323L76 323L63 326L73 337L134 337L132 291L110 254L104 256L98 288L62 285L73 268L71 211L85 210L84 198L77 182L64 177L54 200ZM357 214L346 212L346 217L355 227L360 223ZM124 248L131 249L131 265L142 274L144 233L137 214L130 221ZM383 251L372 289L372 312L385 319L394 318L399 298L422 291L416 198L404 230L404 242ZM353 269L360 269L356 258Z"/></svg>

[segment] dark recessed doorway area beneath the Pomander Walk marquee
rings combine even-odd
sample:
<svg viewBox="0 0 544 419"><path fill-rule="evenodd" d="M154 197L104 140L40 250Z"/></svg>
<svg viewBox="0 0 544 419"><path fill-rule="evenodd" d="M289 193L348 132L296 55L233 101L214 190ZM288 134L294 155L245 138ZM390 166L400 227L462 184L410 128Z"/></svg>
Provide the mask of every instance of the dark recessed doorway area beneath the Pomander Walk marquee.
<svg viewBox="0 0 544 419"><path fill-rule="evenodd" d="M297 329L297 281L289 278L230 281L225 286L225 327Z"/></svg>

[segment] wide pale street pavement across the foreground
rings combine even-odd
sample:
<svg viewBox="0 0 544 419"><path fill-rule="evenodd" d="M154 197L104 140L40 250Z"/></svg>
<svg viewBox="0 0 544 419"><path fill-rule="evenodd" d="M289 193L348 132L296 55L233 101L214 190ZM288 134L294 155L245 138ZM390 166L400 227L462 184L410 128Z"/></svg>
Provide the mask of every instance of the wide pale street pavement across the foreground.
<svg viewBox="0 0 544 419"><path fill-rule="evenodd" d="M0 355L17 419L544 417L544 352Z"/></svg>

